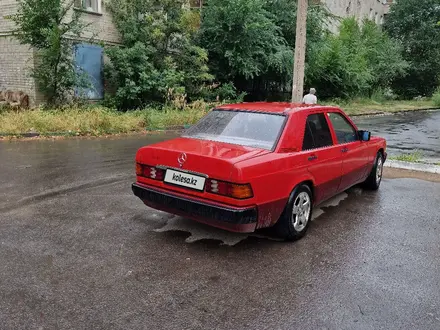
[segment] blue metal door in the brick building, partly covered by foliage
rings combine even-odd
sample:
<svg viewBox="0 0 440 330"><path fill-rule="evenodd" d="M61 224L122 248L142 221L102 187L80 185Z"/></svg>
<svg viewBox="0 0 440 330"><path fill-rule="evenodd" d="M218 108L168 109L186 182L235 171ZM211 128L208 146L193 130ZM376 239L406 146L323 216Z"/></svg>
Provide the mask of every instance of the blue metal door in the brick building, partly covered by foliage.
<svg viewBox="0 0 440 330"><path fill-rule="evenodd" d="M104 98L103 85L103 56L102 47L90 44L75 45L75 65L88 78L90 88L77 88L76 96L89 100L100 100Z"/></svg>

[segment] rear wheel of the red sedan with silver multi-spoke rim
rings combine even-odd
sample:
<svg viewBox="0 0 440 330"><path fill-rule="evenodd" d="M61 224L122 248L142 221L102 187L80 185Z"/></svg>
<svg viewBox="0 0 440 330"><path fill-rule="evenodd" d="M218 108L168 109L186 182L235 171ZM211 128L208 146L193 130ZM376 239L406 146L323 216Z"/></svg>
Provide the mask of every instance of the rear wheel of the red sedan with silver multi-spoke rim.
<svg viewBox="0 0 440 330"><path fill-rule="evenodd" d="M313 194L306 184L297 186L290 194L289 201L274 226L275 234L286 241L302 238L312 221Z"/></svg>

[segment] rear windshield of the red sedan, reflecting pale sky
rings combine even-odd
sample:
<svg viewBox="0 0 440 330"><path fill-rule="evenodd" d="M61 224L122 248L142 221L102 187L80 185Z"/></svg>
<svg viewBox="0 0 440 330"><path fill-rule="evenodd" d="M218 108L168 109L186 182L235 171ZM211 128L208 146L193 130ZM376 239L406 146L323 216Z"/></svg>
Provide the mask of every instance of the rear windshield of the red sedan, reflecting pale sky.
<svg viewBox="0 0 440 330"><path fill-rule="evenodd" d="M216 109L183 136L272 150L284 119L283 115Z"/></svg>

